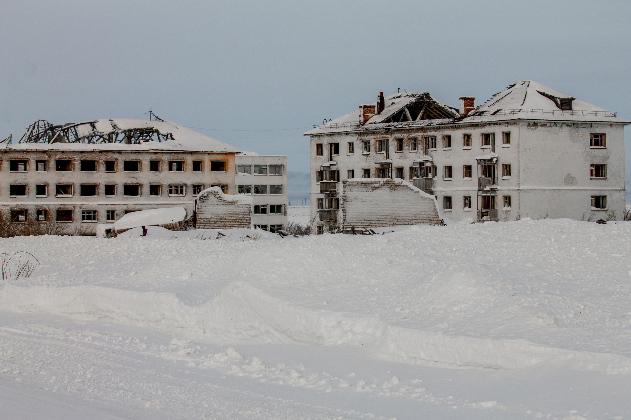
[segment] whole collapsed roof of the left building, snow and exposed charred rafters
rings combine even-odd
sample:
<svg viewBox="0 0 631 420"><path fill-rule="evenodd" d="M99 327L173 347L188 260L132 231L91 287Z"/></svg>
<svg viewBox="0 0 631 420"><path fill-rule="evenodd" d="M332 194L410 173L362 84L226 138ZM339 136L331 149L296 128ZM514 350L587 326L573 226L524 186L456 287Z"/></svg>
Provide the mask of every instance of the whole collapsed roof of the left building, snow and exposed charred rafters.
<svg viewBox="0 0 631 420"><path fill-rule="evenodd" d="M37 120L6 149L173 150L238 153L239 149L165 120L115 118L52 125Z"/></svg>

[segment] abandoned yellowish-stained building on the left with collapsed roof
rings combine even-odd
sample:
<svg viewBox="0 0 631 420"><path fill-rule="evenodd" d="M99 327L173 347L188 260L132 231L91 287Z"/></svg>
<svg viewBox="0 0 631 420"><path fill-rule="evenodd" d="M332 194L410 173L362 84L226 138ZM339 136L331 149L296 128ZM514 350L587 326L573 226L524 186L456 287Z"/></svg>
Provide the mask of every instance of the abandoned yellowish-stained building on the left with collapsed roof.
<svg viewBox="0 0 631 420"><path fill-rule="evenodd" d="M0 209L18 223L50 220L95 234L98 223L137 210L177 206L192 217L199 194L213 186L237 194L240 150L164 120L37 120L17 144L9 138L0 147ZM283 179L274 191L286 203Z"/></svg>

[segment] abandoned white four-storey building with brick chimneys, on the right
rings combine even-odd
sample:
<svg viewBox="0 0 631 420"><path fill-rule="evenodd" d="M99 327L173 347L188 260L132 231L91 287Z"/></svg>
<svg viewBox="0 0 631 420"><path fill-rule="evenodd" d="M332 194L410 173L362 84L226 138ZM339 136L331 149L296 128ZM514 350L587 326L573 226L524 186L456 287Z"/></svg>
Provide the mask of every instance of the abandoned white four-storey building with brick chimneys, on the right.
<svg viewBox="0 0 631 420"><path fill-rule="evenodd" d="M305 133L318 232L350 227L345 189L361 179L407 181L456 221L622 217L628 120L534 81L474 102L463 96L454 108L428 92L379 92ZM398 210L384 202L374 211L388 225Z"/></svg>

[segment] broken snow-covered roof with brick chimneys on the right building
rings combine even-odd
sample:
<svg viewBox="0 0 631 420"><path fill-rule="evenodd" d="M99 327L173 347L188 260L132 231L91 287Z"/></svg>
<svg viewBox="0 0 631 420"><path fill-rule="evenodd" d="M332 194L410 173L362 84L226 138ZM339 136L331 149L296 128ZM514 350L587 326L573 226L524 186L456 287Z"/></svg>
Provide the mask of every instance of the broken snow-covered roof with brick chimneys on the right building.
<svg viewBox="0 0 631 420"><path fill-rule="evenodd" d="M431 101L435 110L441 110L433 116L445 118L416 118L397 120L392 116L398 116L400 111L414 105L420 99ZM561 110L560 99L571 99L572 110ZM608 123L630 123L630 121L618 117L615 113L599 108L598 106L579 101L571 96L559 93L542 84L534 81L521 81L510 84L510 86L500 93L493 95L486 103L466 116L459 115L450 106L443 105L430 96L427 92L416 92L406 94L394 94L386 98L386 108L380 115L370 118L365 124L360 124L360 110L357 109L349 114L340 116L330 122L318 125L305 135L317 135L338 132L357 132L365 130L384 130L401 128L420 128L432 125L450 125L460 123L490 122L502 120L546 120L546 121L575 121L575 122L608 122ZM373 105L377 105L374 103ZM414 117L414 115L411 115ZM423 115L427 118L428 115Z"/></svg>

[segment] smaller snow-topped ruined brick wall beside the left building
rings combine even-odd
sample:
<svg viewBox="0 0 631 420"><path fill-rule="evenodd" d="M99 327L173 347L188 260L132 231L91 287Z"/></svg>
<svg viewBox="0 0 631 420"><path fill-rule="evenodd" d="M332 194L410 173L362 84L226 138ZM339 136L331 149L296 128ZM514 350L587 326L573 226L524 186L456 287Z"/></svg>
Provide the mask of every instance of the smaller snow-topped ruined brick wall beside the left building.
<svg viewBox="0 0 631 420"><path fill-rule="evenodd" d="M250 228L252 198L221 193L219 187L209 188L199 194L197 204L197 229Z"/></svg>

